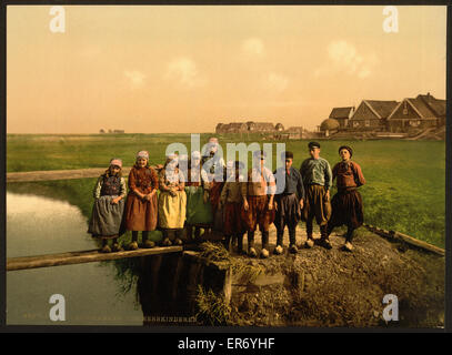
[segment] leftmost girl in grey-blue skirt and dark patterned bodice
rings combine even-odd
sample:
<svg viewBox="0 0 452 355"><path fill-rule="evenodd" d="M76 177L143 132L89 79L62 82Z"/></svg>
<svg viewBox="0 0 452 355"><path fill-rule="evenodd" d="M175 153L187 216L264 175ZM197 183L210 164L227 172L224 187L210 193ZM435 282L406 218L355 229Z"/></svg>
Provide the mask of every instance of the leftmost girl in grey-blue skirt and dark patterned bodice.
<svg viewBox="0 0 452 355"><path fill-rule="evenodd" d="M118 237L124 211L125 181L121 175L122 161L112 159L107 171L99 176L93 191L94 205L88 233L102 240L101 252L119 252ZM113 240L112 246L108 245Z"/></svg>

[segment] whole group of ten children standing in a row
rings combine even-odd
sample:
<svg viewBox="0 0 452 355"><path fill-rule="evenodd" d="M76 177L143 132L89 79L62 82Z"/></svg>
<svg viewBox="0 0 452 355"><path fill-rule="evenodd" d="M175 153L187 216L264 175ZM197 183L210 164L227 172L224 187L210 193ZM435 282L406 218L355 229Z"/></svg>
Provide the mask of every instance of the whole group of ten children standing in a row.
<svg viewBox="0 0 452 355"><path fill-rule="evenodd" d="M289 251L298 253L297 225L307 223L305 247L313 247L313 220L320 226L319 244L331 248L329 235L335 226L345 224L344 248L352 251L353 232L363 223L362 199L356 187L363 185L361 168L351 160L353 151L339 149L341 162L331 170L320 156L320 144L310 142L310 158L300 170L292 166L293 153L281 154L283 166L271 172L265 168L264 151L253 153L252 169L243 175L243 163L224 163L218 152L218 140L211 138L208 151L201 156L193 152L181 164L182 156L167 156L157 172L150 166L149 153L140 151L129 174L129 193L121 175L122 161L112 159L109 169L98 179L89 233L102 239L102 252L122 250L118 237L132 231L129 250L153 247L149 232L163 232L162 245L181 245L183 230L187 239L200 240L200 230L215 229L224 235L230 250L237 242L239 253L258 256L254 234L259 226L262 239L261 257L269 257L269 229L277 227L274 254L283 253L284 229L289 230ZM188 168L188 169L182 169ZM338 193L330 202L330 190L337 180ZM158 193L159 190L159 193ZM127 196L127 197L125 197ZM141 245L138 233L141 232ZM248 236L248 251L243 236ZM110 247L108 240L112 239Z"/></svg>

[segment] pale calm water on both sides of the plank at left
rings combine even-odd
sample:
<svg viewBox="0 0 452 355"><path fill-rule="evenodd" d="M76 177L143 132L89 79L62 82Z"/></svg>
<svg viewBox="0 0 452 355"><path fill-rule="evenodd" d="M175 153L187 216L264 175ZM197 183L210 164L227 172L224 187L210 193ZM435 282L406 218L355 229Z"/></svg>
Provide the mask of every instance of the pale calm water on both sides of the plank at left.
<svg viewBox="0 0 452 355"><path fill-rule="evenodd" d="M7 192L7 257L97 248L88 221L63 201ZM114 262L7 273L7 324L142 325L135 291L121 293ZM66 300L66 321L49 317L49 298Z"/></svg>

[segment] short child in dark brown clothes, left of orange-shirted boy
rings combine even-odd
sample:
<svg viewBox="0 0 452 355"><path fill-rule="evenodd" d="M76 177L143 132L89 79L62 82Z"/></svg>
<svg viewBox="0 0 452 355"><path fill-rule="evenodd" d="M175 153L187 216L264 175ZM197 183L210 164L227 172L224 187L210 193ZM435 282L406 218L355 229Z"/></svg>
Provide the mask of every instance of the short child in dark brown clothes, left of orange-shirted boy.
<svg viewBox="0 0 452 355"><path fill-rule="evenodd" d="M238 253L243 253L243 234L245 225L241 216L242 210L242 190L243 176L241 170L243 169L242 162L234 162L230 168L228 166L228 179L224 183L220 196L220 206L224 210L224 247L230 251L231 237L232 241L238 242ZM230 173L231 172L231 173Z"/></svg>

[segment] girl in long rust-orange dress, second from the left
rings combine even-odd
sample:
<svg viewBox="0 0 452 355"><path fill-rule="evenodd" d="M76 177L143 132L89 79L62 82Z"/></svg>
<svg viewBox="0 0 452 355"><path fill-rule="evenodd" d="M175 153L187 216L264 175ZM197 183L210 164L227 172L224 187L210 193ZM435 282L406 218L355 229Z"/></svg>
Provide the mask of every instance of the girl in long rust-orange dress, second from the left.
<svg viewBox="0 0 452 355"><path fill-rule="evenodd" d="M149 232L157 227L157 190L159 178L149 166L149 153L140 151L129 173L129 195L125 206L125 227L132 231L129 250L137 250L138 232L141 231L142 247L153 247L155 243L148 240Z"/></svg>

